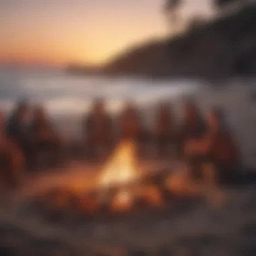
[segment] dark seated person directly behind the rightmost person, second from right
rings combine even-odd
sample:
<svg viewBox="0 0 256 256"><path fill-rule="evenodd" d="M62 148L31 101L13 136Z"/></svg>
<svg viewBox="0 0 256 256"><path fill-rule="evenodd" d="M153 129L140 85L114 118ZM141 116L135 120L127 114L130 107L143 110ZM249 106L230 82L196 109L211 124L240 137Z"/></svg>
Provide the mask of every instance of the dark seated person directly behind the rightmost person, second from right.
<svg viewBox="0 0 256 256"><path fill-rule="evenodd" d="M204 135L206 125L195 103L185 102L183 106L183 121L177 136L179 156L183 156L184 147L190 139L198 139Z"/></svg>

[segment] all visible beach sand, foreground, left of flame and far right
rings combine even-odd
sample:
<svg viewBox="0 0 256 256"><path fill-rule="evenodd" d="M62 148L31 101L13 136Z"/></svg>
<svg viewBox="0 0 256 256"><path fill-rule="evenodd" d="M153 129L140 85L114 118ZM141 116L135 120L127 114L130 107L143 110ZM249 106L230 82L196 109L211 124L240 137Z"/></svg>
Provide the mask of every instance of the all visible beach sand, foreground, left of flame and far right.
<svg viewBox="0 0 256 256"><path fill-rule="evenodd" d="M247 82L248 86L243 83L237 80L223 88L205 87L194 97L203 111L213 104L224 107L241 143L245 164L256 167L256 102L250 97L255 89L249 85L252 81ZM174 104L178 109L179 99ZM76 186L77 179L80 187L93 183L94 167L86 166L87 172L74 169ZM224 187L227 201L221 206L205 200L170 209L162 216L146 214L125 221L52 224L19 214L18 205L33 191L67 181L72 183L63 172L38 174L15 195L4 196L0 255L256 255L255 185Z"/></svg>

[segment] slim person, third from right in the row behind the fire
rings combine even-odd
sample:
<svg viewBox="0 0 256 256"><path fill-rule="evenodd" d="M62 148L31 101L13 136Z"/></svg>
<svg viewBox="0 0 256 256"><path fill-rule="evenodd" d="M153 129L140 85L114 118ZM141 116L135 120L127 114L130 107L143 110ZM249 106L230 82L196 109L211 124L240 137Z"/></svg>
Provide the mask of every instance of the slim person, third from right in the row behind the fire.
<svg viewBox="0 0 256 256"><path fill-rule="evenodd" d="M157 110L154 134L158 156L166 156L174 141L174 122L168 104L160 104Z"/></svg>

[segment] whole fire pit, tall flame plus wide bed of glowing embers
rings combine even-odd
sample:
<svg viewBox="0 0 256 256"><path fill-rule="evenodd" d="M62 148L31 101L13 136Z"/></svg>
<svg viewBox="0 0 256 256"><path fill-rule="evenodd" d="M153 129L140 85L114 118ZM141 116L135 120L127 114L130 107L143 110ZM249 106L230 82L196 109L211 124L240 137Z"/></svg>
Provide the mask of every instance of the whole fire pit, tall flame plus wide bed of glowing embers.
<svg viewBox="0 0 256 256"><path fill-rule="evenodd" d="M141 172L136 144L122 141L96 176L94 189L53 189L36 197L35 208L47 216L60 218L69 213L90 220L141 210L162 210L172 203L175 190L185 195L185 186L179 183L181 179L174 179L168 168L154 173Z"/></svg>

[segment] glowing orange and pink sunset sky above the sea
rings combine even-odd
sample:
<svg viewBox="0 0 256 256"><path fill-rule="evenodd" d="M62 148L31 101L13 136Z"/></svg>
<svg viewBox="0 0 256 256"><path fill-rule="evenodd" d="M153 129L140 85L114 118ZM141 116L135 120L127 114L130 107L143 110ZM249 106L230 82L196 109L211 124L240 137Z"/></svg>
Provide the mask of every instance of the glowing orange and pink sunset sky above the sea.
<svg viewBox="0 0 256 256"><path fill-rule="evenodd" d="M210 15L210 0L183 0L182 17ZM171 32L163 0L0 0L0 63L103 64Z"/></svg>

